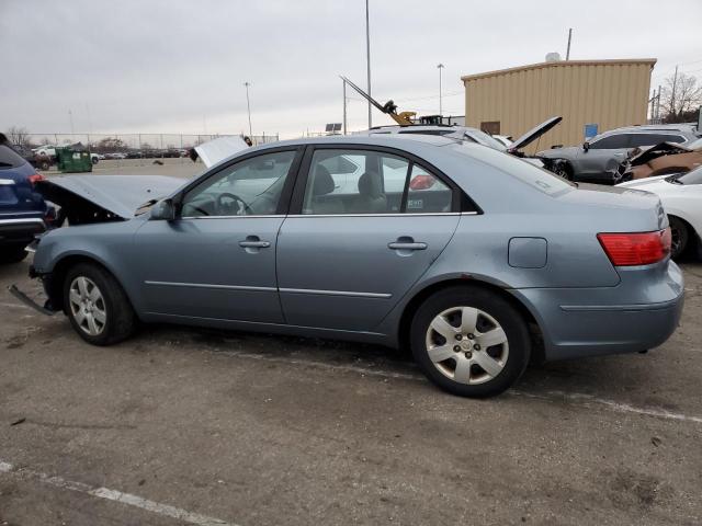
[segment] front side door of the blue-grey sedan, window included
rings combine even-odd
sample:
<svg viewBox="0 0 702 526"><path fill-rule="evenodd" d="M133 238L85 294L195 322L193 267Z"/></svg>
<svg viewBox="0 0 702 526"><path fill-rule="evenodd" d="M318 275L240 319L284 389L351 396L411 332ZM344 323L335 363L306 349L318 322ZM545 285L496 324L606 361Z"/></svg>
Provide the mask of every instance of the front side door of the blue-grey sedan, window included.
<svg viewBox="0 0 702 526"><path fill-rule="evenodd" d="M302 149L237 160L186 187L176 220L137 231L149 313L280 323L279 229Z"/></svg>

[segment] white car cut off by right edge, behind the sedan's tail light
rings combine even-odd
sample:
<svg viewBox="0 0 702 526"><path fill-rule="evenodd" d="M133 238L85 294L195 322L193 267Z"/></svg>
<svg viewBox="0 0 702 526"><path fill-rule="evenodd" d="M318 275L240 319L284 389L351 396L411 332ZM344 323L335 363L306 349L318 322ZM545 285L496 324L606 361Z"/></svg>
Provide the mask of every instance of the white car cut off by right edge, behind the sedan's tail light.
<svg viewBox="0 0 702 526"><path fill-rule="evenodd" d="M702 167L682 174L638 179L618 186L645 190L660 197L670 221L672 258L693 244L702 253Z"/></svg>

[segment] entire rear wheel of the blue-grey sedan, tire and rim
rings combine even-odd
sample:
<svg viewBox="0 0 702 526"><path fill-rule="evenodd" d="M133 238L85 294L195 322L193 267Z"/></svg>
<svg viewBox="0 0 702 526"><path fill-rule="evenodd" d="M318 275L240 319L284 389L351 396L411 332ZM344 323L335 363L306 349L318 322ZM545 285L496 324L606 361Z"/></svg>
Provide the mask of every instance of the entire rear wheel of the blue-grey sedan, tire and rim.
<svg viewBox="0 0 702 526"><path fill-rule="evenodd" d="M519 311L501 296L475 286L430 296L415 313L410 344L415 361L433 384L474 398L508 389L531 354Z"/></svg>

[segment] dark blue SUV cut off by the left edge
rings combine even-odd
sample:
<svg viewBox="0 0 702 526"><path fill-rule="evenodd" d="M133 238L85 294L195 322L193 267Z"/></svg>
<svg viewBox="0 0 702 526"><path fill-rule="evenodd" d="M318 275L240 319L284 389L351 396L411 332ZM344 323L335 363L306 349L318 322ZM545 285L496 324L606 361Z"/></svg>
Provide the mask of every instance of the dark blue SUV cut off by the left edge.
<svg viewBox="0 0 702 526"><path fill-rule="evenodd" d="M42 179L0 134L0 263L22 261L24 248L46 230L53 208L34 192Z"/></svg>

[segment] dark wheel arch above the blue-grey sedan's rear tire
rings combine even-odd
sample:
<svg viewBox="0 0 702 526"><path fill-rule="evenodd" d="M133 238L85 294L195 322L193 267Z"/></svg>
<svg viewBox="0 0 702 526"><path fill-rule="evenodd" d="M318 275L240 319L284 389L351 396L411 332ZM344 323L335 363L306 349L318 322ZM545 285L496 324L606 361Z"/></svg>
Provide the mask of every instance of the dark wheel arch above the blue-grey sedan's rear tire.
<svg viewBox="0 0 702 526"><path fill-rule="evenodd" d="M448 277L445 279L431 283L424 288L418 290L411 297L411 299L407 301L400 316L397 329L397 341L399 343L399 348L409 348L409 328L412 318L415 317L415 313L417 312L419 306L428 297L438 293L439 290L444 290L452 287L462 287L466 285L489 290L497 296L500 296L512 307L514 307L529 327L530 338L532 340L532 361L535 363L542 363L545 361L544 333L536 317L526 307L526 305L524 305L523 301L517 298L513 294L510 294L509 290L505 289L503 287L473 277Z"/></svg>

